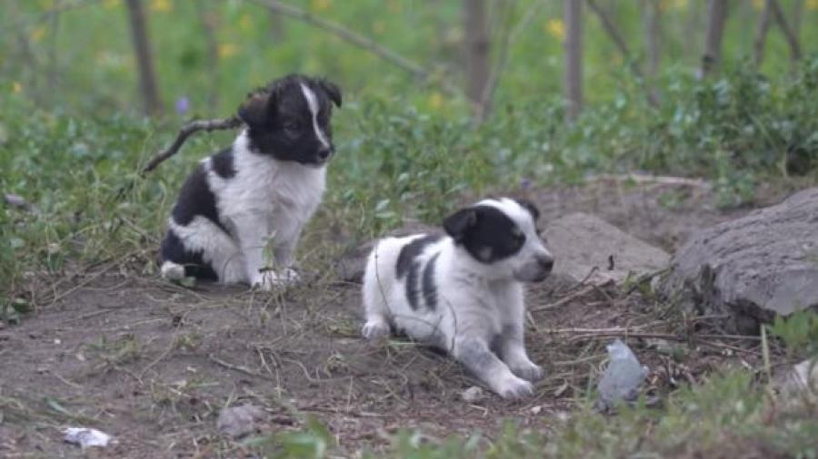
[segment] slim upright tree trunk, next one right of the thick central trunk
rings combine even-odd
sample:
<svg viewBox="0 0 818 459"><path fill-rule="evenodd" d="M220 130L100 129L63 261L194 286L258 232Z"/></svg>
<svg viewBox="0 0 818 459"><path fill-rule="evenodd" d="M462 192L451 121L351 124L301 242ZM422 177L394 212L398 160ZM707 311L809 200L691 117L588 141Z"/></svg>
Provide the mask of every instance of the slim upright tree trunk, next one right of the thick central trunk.
<svg viewBox="0 0 818 459"><path fill-rule="evenodd" d="M583 2L564 0L565 117L573 122L583 109Z"/></svg>

